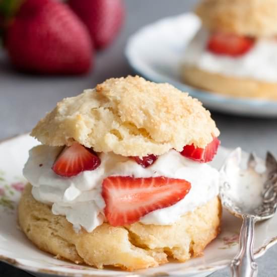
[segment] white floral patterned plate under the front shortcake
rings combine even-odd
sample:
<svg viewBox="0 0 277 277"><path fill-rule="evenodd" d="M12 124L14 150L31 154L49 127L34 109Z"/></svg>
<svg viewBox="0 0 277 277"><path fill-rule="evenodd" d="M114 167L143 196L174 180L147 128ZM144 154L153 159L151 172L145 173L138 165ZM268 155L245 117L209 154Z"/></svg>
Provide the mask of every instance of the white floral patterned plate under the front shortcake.
<svg viewBox="0 0 277 277"><path fill-rule="evenodd" d="M225 267L238 249L241 222L223 214L222 233L204 251L204 255L185 263L169 262L156 268L126 272L108 268L98 270L90 266L76 265L55 259L52 255L37 249L20 231L17 225L17 203L26 180L22 168L28 157L28 150L38 143L24 134L0 144L0 260L32 272L36 276L45 274L59 276L206 276ZM219 168L229 150L221 147L215 167ZM277 215L257 224L255 233L255 257L259 257L277 242ZM48 275L49 276L49 275Z"/></svg>

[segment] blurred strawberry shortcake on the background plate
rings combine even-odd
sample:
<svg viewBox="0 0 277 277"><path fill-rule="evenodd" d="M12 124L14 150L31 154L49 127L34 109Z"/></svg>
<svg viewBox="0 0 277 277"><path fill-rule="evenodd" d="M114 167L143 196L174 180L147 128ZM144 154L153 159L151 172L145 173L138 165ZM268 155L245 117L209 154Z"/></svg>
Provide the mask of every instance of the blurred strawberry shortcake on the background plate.
<svg viewBox="0 0 277 277"><path fill-rule="evenodd" d="M235 97L277 100L277 1L204 0L187 45L185 83Z"/></svg>

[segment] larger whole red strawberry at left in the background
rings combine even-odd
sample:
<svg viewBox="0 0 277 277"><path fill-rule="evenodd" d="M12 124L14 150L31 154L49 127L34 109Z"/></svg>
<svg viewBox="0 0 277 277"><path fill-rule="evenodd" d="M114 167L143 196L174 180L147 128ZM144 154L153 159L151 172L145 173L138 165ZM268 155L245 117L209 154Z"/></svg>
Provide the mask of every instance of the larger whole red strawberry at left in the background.
<svg viewBox="0 0 277 277"><path fill-rule="evenodd" d="M54 0L26 0L8 27L6 46L18 69L43 74L86 73L93 56L86 26Z"/></svg>

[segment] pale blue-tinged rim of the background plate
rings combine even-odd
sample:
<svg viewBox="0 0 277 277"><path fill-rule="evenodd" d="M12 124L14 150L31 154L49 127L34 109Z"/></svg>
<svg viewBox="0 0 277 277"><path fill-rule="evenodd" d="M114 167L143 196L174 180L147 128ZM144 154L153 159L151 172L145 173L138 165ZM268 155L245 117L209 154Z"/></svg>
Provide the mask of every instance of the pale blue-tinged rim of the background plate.
<svg viewBox="0 0 277 277"><path fill-rule="evenodd" d="M182 83L181 81L169 81L166 79L170 79L166 78L165 80L161 80L161 77L156 76L156 74L153 75L153 73L151 73L150 71L148 72L144 72L143 68L141 68L141 66L136 62L137 60L137 56L133 56L133 45L135 43L135 40L137 40L138 38L142 37L144 35L144 33L146 31L148 31L151 28L157 28L158 25L162 25L165 22L171 22L173 20L177 20L178 18L185 18L185 17L195 17L198 18L195 14L191 13L191 12L187 12L187 13L182 13L176 16L169 16L169 17L164 17L162 19L159 19L155 22L152 22L150 24L147 24L143 27L141 27L140 29L138 29L137 31L135 31L131 36L129 36L126 45L125 45L125 49L124 49L124 55L129 63L129 65L132 67L132 69L144 76L145 78L152 80L154 82L159 82L159 83L163 83L163 82L170 82L171 84L173 84L174 86L178 87L179 89L182 89L189 92L189 94L193 97L201 97L201 98L205 98L208 101L216 101L218 104L241 104L241 105L247 105L249 107L259 107L259 108L277 108L277 101L269 101L266 99L253 99L253 98L247 98L247 97L233 97L233 96L227 96L227 95L223 95L223 94L217 94L217 93L213 93L213 92L209 92L209 91L205 91L205 90L201 90L201 89L197 89L194 88L192 86L189 86L185 83ZM247 114L248 115L248 114ZM250 115L250 114L249 114ZM269 114L264 114L263 116L268 116L268 117L272 117L272 115ZM277 114L275 115L277 116Z"/></svg>

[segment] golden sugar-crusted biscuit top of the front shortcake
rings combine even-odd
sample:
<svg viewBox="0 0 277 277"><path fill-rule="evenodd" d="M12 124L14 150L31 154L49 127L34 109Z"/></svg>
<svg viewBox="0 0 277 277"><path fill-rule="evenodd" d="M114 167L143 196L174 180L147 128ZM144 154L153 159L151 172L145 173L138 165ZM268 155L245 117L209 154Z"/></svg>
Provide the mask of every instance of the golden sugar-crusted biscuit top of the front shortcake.
<svg viewBox="0 0 277 277"><path fill-rule="evenodd" d="M50 146L77 141L96 152L142 157L190 144L204 148L219 130L210 112L187 93L128 76L63 99L31 135Z"/></svg>

